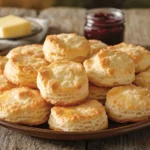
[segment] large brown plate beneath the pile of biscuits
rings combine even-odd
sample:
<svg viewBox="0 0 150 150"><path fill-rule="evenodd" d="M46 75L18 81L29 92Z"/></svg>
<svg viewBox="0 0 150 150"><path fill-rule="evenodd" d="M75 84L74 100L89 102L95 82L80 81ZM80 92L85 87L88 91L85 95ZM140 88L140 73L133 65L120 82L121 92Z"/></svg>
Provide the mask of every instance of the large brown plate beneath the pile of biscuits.
<svg viewBox="0 0 150 150"><path fill-rule="evenodd" d="M8 129L16 130L24 134L28 134L35 137L53 140L92 140L103 139L107 137L117 136L131 131L139 130L150 126L150 119L139 123L119 124L109 121L109 128L101 131L90 132L65 132L54 131L48 129L47 124L43 124L36 127L29 127L24 125L18 125L9 123L6 121L0 121L0 125Z"/></svg>

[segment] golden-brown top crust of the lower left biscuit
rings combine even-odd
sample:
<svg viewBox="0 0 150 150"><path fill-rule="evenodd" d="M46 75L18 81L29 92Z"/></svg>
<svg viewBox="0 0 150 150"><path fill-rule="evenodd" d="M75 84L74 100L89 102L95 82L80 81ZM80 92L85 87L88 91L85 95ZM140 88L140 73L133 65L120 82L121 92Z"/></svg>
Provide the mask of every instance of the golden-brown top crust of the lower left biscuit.
<svg viewBox="0 0 150 150"><path fill-rule="evenodd" d="M32 111L42 105L46 105L46 101L42 99L40 92L27 87L13 88L0 95L0 109L6 109L9 113L17 113L23 108Z"/></svg>

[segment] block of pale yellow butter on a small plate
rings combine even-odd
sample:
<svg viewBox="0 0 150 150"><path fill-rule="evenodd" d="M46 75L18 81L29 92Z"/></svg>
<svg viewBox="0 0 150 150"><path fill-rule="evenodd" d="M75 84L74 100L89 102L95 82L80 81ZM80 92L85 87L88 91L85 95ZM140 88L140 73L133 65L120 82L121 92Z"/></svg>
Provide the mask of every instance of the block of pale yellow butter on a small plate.
<svg viewBox="0 0 150 150"><path fill-rule="evenodd" d="M29 21L9 15L0 18L0 38L14 38L25 36L31 33Z"/></svg>

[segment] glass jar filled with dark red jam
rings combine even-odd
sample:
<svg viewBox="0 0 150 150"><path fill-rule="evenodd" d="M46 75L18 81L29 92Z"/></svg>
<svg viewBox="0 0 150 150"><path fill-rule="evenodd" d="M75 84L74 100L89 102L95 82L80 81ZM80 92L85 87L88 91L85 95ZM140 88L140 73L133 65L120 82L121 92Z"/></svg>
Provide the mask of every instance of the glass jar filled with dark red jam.
<svg viewBox="0 0 150 150"><path fill-rule="evenodd" d="M124 40L124 30L124 13L120 9L93 9L86 16L84 36L87 39L114 45Z"/></svg>

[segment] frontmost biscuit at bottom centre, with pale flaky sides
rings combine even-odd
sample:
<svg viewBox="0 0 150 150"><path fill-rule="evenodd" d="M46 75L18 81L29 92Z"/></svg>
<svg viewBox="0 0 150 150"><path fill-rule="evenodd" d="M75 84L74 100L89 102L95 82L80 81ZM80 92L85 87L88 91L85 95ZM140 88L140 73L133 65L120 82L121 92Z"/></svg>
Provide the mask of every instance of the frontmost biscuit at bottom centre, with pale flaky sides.
<svg viewBox="0 0 150 150"><path fill-rule="evenodd" d="M104 106L97 100L89 100L78 106L52 107L48 124L54 130L98 131L108 127L108 119Z"/></svg>

